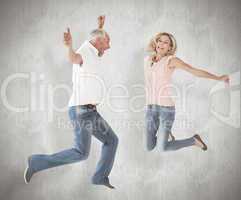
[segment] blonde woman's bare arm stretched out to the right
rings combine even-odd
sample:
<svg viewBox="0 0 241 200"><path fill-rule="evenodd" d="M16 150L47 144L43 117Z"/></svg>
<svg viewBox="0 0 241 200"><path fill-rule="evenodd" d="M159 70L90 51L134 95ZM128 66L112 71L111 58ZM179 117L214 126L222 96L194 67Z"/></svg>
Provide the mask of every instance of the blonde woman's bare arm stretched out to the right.
<svg viewBox="0 0 241 200"><path fill-rule="evenodd" d="M185 63L184 61L182 61L181 59L175 57L172 58L170 60L169 63L170 67L175 67L175 68L179 68L179 69L183 69L191 74L193 74L194 76L197 77L202 77L202 78L208 78L208 79L213 79L213 80L219 80L219 81L224 81L226 83L229 83L229 76L228 75L222 75L222 76L217 76L215 74L211 74L205 70L202 69L198 69L195 68L187 63Z"/></svg>

